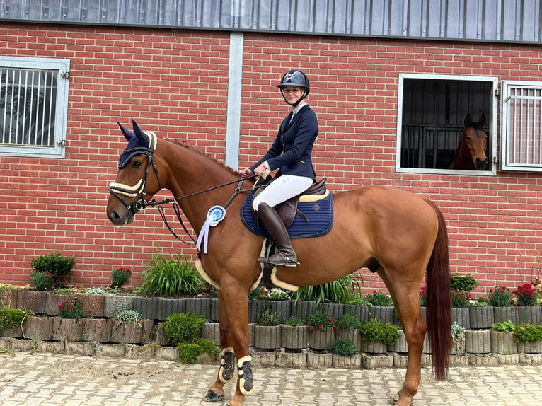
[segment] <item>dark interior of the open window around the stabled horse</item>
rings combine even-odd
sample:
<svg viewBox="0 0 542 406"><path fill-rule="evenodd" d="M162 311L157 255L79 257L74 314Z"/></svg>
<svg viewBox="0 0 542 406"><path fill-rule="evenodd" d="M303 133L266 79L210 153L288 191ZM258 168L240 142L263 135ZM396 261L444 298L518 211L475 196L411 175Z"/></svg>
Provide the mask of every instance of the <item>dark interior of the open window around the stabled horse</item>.
<svg viewBox="0 0 542 406"><path fill-rule="evenodd" d="M441 79L403 79L400 168L446 169L454 161L464 122L485 115L488 134L485 155L492 169L492 82Z"/></svg>

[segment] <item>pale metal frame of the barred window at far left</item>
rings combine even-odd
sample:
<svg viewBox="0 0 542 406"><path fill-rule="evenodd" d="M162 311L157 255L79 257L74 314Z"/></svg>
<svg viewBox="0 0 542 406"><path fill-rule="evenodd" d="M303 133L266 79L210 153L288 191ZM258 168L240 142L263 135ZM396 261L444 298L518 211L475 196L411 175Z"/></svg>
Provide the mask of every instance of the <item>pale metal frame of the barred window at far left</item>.
<svg viewBox="0 0 542 406"><path fill-rule="evenodd" d="M0 69L58 71L57 100L54 114L54 140L52 146L4 144L0 141L0 156L64 158L68 115L69 59L0 56ZM0 95L0 97L4 97L4 95ZM13 112L11 113L12 115ZM4 115L0 117L0 120L4 120Z"/></svg>

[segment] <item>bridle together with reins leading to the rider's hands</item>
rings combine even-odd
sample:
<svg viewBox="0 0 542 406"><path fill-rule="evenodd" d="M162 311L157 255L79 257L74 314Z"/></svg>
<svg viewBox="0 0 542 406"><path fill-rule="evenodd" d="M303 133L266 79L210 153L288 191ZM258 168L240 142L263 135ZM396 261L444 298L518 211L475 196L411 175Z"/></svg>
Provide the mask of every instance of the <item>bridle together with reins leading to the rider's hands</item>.
<svg viewBox="0 0 542 406"><path fill-rule="evenodd" d="M182 217L180 215L180 207L179 207L179 204L178 204L178 200L186 199L187 197L192 197L192 196L195 196L195 195L200 195L200 194L205 193L205 192L210 192L212 190L219 189L220 187L225 187L225 186L229 186L229 185L233 185L233 184L237 183L237 187L233 191L233 194L228 199L226 204L224 204L224 209L226 209L229 206L229 204L232 202L233 198L236 197L236 195L238 195L239 193L242 193L242 192L248 192L249 190L252 189L252 187L250 187L250 189L243 190L242 189L243 182L245 180L248 180L248 179L256 178L256 176L257 176L257 175L250 175L250 176L247 176L246 178L242 178L240 180L233 180L232 182L227 182L227 183L223 183L222 185L209 187L208 189L200 190L200 192L195 192L195 193L190 193L190 195L175 197L174 199L170 198L170 199L163 199L163 200L159 200L159 201L156 201L155 199L152 199L152 200L146 201L145 200L146 182L147 182L147 178L149 176L149 172L151 170L151 167L153 168L154 174L156 175L156 180L158 180L158 190L160 190L162 188L162 185L161 185L161 182L160 182L160 178L158 178L158 168L156 168L156 164L154 163L154 160L153 160L153 157L152 157L153 150L151 150L149 148L141 148L141 147L139 147L137 149L125 150L124 152L125 153L132 153L132 152L136 152L136 151L141 151L142 153L146 153L147 156L149 156L149 158L147 160L147 166L146 166L146 170L145 170L145 173L143 175L143 178L141 180L139 180L139 182L137 182L137 184L134 185L134 186L127 186L127 185L123 185L121 183L113 182L109 186L110 194L117 197L117 199L119 199L120 202L122 202L122 204L125 205L126 209L131 211L132 214L134 214L134 215L139 213L139 211L143 211L147 206L151 206L151 207L156 206L158 208L158 213L160 214L160 216L162 218L163 224L168 228L170 233L175 238L177 238L180 242L188 244L188 245L195 244L196 240L195 240L194 237L192 237L192 235L190 235L190 232L188 231L188 228L185 226L185 223L184 223L184 221L183 221L183 219L182 219ZM128 204L125 201L125 199L123 198L123 196L125 196L125 197L137 197L137 200L135 202L133 202L132 204ZM169 225L168 220L166 219L166 214L164 213L164 210L163 210L163 204L170 204L170 203L173 203L172 206L173 206L173 211L175 212L175 216L177 216L177 219L178 219L180 225L183 227L183 230L185 231L185 233L192 240L191 242L181 239L175 233L175 231L173 231L173 228L171 228L171 226Z"/></svg>

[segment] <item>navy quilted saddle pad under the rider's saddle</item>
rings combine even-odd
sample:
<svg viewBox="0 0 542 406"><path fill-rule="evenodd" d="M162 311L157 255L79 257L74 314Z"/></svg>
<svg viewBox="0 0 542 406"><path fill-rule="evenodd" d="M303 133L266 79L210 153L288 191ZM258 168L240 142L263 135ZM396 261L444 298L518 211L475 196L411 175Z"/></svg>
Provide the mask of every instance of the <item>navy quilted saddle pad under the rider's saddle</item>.
<svg viewBox="0 0 542 406"><path fill-rule="evenodd" d="M241 207L241 220L246 228L258 236L269 237L263 224L252 214L252 197L254 191L250 192ZM288 227L290 238L319 237L329 233L333 226L333 195L329 193L322 199L315 202L299 202L297 210L301 211L309 221L296 213L294 222Z"/></svg>

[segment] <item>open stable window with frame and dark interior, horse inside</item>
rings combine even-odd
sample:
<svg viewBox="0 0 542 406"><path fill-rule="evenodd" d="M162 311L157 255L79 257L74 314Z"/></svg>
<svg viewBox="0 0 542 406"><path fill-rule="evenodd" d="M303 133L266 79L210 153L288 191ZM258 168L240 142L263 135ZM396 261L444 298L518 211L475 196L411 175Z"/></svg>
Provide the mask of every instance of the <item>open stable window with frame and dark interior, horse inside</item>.
<svg viewBox="0 0 542 406"><path fill-rule="evenodd" d="M479 76L400 74L396 170L495 175L497 83ZM487 158L487 164L458 169L456 151L469 120L480 121L488 137L468 158ZM467 160L464 151L457 156Z"/></svg>

